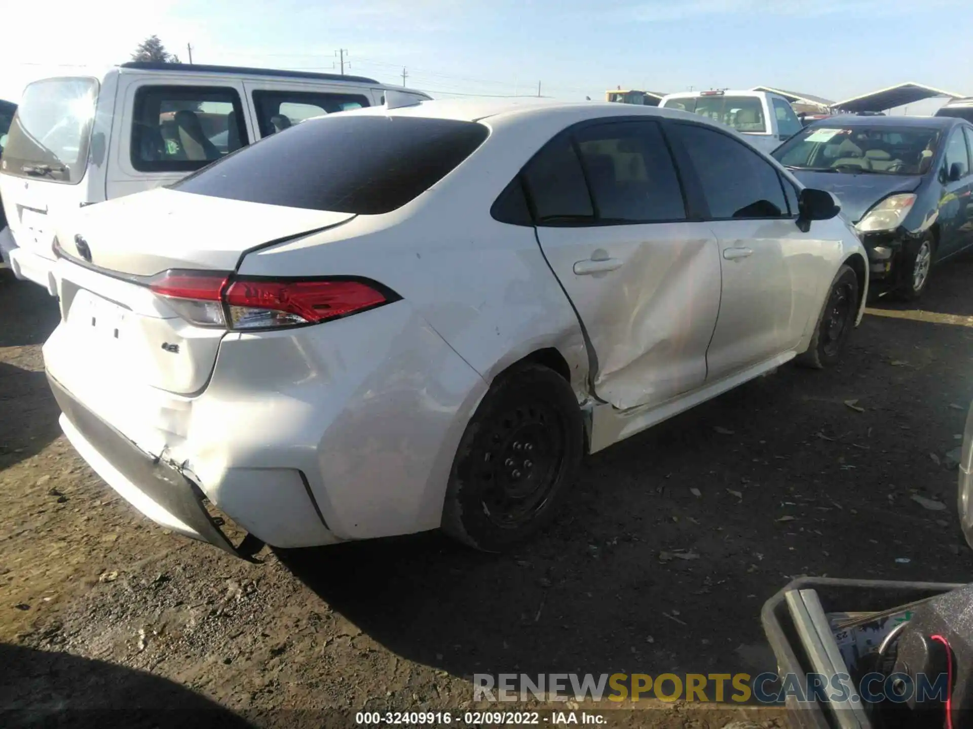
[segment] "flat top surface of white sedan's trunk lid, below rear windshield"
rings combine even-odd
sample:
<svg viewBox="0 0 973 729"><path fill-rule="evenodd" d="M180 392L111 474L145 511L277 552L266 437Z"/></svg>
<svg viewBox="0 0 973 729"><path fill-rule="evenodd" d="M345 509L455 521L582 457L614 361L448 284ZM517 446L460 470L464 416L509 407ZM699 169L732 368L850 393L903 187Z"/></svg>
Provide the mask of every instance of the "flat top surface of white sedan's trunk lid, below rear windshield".
<svg viewBox="0 0 973 729"><path fill-rule="evenodd" d="M168 268L232 271L254 247L353 217L159 189L83 210L58 228L58 241L69 256L129 275Z"/></svg>

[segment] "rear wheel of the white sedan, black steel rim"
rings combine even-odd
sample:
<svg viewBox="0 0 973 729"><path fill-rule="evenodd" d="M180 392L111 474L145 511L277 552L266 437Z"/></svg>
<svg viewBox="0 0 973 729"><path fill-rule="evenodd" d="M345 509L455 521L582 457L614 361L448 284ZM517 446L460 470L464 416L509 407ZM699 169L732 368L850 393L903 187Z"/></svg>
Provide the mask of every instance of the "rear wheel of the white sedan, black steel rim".
<svg viewBox="0 0 973 729"><path fill-rule="evenodd" d="M578 400L563 377L540 364L504 372L456 450L443 531L486 552L531 537L563 500L584 438Z"/></svg>

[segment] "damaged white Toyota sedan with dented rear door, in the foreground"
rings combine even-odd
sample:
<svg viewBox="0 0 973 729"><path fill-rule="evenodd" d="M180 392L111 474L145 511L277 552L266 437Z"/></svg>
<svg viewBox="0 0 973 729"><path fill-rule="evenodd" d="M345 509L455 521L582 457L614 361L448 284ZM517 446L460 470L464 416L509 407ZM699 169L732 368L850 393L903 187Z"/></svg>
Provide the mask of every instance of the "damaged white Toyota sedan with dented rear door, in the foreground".
<svg viewBox="0 0 973 729"><path fill-rule="evenodd" d="M501 550L585 453L838 360L868 282L838 212L696 115L374 107L65 221L44 357L75 448L171 530Z"/></svg>

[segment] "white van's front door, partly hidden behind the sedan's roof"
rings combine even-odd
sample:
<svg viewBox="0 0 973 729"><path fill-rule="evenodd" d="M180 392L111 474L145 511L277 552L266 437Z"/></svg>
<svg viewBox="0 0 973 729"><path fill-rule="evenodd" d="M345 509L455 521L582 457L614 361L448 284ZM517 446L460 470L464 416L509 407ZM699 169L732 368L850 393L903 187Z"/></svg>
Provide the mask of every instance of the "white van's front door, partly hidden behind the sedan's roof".
<svg viewBox="0 0 973 729"><path fill-rule="evenodd" d="M303 84L247 81L244 84L253 109L253 125L261 137L325 114L372 105L366 88L341 84Z"/></svg>

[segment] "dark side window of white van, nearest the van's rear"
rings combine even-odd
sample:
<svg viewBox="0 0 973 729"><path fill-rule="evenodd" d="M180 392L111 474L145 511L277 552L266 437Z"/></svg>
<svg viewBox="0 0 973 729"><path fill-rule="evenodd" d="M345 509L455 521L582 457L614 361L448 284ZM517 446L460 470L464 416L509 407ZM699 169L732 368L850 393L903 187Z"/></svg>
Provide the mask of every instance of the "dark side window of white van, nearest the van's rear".
<svg viewBox="0 0 973 729"><path fill-rule="evenodd" d="M247 145L239 94L226 87L141 87L135 91L131 166L193 172Z"/></svg>

